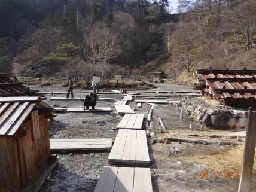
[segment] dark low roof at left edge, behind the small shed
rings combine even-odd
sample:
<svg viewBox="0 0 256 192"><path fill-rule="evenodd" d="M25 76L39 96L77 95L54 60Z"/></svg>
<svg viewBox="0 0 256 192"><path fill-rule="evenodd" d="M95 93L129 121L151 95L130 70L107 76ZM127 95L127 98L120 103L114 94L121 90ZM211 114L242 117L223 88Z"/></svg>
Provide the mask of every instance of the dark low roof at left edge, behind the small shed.
<svg viewBox="0 0 256 192"><path fill-rule="evenodd" d="M38 92L23 86L14 74L0 73L0 96L39 96Z"/></svg>

